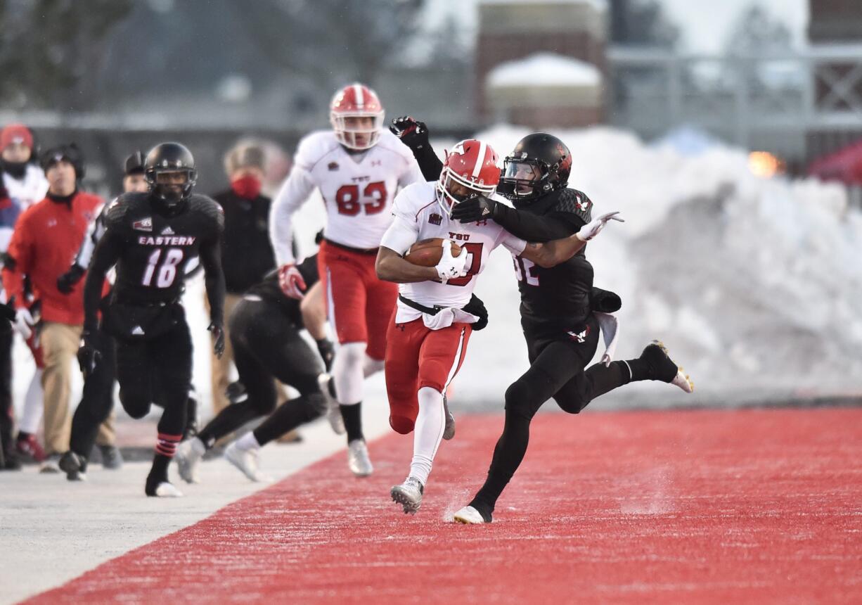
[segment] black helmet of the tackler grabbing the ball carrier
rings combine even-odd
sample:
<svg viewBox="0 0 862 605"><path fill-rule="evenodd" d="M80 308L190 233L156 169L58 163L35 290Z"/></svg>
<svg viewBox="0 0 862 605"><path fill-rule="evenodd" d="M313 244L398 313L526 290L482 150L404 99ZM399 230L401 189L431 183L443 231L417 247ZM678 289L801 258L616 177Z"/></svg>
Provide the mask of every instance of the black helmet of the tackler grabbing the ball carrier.
<svg viewBox="0 0 862 605"><path fill-rule="evenodd" d="M515 208L532 204L541 196L563 189L572 173L572 152L556 136L544 132L527 135L503 161L497 192Z"/></svg>

